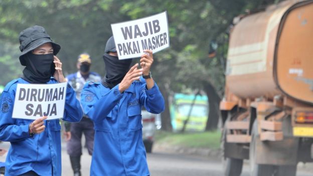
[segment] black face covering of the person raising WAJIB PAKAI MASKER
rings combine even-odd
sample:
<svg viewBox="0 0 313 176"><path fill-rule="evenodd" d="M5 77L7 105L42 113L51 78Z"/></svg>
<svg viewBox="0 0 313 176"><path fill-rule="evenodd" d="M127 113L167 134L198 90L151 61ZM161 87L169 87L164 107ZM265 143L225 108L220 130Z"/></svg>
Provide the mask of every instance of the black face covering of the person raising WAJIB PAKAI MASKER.
<svg viewBox="0 0 313 176"><path fill-rule="evenodd" d="M102 84L105 87L112 89L119 84L129 70L131 59L118 60L117 56L103 55L105 63L105 77L102 79Z"/></svg>

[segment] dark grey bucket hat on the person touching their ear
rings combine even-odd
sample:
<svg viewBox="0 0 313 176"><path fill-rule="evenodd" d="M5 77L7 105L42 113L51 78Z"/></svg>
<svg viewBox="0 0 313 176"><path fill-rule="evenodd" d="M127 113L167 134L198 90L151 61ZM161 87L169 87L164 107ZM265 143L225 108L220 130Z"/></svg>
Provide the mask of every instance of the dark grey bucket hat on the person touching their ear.
<svg viewBox="0 0 313 176"><path fill-rule="evenodd" d="M61 49L59 44L52 42L45 28L41 26L33 26L23 30L20 33L19 40L21 44L20 50L22 52L20 55L20 62L24 66L26 66L26 62L23 56L45 43L50 42L52 44L53 55L57 55Z"/></svg>

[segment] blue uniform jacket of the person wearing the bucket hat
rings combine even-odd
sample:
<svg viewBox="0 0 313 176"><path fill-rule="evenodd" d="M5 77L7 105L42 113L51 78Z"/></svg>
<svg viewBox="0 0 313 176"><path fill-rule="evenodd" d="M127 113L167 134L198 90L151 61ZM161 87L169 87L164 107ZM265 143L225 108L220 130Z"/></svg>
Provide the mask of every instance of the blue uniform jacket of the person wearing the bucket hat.
<svg viewBox="0 0 313 176"><path fill-rule="evenodd" d="M12 118L17 84L29 84L19 78L7 84L1 96L0 140L10 141L6 175L19 175L34 170L39 175L61 175L61 126L59 119L45 120L45 130L29 135L33 120ZM54 78L47 84L58 83ZM83 112L70 85L66 89L64 120L78 122ZM53 172L53 174L52 174Z"/></svg>

